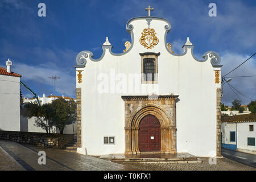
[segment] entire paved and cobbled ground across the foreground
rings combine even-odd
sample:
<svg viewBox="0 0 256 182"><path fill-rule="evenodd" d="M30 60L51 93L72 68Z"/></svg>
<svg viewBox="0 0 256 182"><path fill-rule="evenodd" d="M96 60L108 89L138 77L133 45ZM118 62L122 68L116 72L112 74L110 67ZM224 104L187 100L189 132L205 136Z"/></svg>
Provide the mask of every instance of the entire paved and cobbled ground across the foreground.
<svg viewBox="0 0 256 182"><path fill-rule="evenodd" d="M38 164L38 151L46 152L46 165ZM139 163L119 162L113 163L108 160L86 156L54 148L42 148L39 146L24 145L7 140L0 140L0 171L3 170L108 170L108 171L213 171L213 170L254 170L256 168L245 166L226 158L217 158L217 164L210 165L209 158L200 158L203 163Z"/></svg>

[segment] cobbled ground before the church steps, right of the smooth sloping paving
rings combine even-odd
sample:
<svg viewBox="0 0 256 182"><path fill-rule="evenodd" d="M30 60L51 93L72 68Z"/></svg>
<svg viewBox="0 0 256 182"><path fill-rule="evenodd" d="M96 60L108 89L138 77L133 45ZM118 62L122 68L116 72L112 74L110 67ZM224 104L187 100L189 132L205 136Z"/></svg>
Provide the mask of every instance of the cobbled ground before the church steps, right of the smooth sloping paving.
<svg viewBox="0 0 256 182"><path fill-rule="evenodd" d="M209 158L200 158L203 163L129 163L120 162L124 166L136 167L145 171L256 171L256 168L246 166L226 158L217 158L216 164L209 164Z"/></svg>

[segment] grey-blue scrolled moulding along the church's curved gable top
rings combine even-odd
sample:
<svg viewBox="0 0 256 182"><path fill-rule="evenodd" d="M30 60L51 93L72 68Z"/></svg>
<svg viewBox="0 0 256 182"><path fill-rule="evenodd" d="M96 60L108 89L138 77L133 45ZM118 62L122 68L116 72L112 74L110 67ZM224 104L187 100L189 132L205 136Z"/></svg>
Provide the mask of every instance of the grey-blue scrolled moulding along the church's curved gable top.
<svg viewBox="0 0 256 182"><path fill-rule="evenodd" d="M129 48L126 48L125 51L123 51L122 53L113 53L112 52L112 45L106 41L105 44L103 44L101 47L102 47L102 55L99 59L93 59L93 53L90 52L90 51L81 51L77 56L76 56L76 63L77 65L75 67L85 67L86 65L86 62L87 60L91 60L91 61L100 61L104 55L105 55L105 52L106 52L106 49L109 49L109 52L110 54L114 55L114 56L122 56L122 55L125 55L127 52L129 52L132 48L133 48L133 44L134 44L134 33L133 33L133 24L131 24L133 22L133 20L138 20L138 19L144 19L147 24L148 24L148 28L150 26L150 24L152 23L152 20L162 20L164 22L166 22L167 24L164 26L164 29L166 30L165 34L164 34L164 44L165 44L165 47L166 47L166 50L167 52L169 52L171 55L174 55L174 56L184 56L187 52L188 52L188 49L191 49L191 53L192 53L192 56L193 58L196 60L196 61L199 61L199 62L204 62L204 61L207 61L208 58L210 58L210 63L212 64L213 67L222 67L222 65L220 65L220 55L218 55L218 53L214 52L214 51L208 51L208 52L205 52L204 55L203 55L203 59L200 60L200 59L197 59L195 57L195 55L193 54L193 47L194 45L190 42L189 38L187 39L187 42L185 43L185 45L183 46L183 53L181 54L176 54L174 53L173 51L171 51L170 49L170 44L168 44L166 42L166 36L168 34L168 32L170 32L171 30L171 24L170 22L167 20L167 19L164 19L164 18L159 18L159 17L155 17L155 16L141 16L141 17L135 17L135 18L132 18L130 19L127 24L126 24L126 30L127 32L131 35L131 45L129 46L127 43L127 46ZM148 31L148 28L145 28L147 31ZM143 33L142 33L143 34ZM155 32L152 32L152 28L150 28L150 34L153 35L153 37L155 36ZM141 41L140 41L142 44L145 44L146 45L146 40L144 40L144 38L141 37ZM151 43L152 46L155 46L156 44L158 44L159 40L158 38L155 36L154 38L154 41ZM148 44L146 47L148 48L152 48L151 44ZM154 45L155 44L155 45Z"/></svg>

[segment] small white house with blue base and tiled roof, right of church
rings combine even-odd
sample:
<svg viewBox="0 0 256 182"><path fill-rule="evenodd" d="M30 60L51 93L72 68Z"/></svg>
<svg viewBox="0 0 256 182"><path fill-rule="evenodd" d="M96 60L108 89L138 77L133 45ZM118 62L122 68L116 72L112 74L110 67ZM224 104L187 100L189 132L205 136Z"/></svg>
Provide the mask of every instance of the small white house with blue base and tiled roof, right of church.
<svg viewBox="0 0 256 182"><path fill-rule="evenodd" d="M221 146L256 154L256 114L234 115L222 118Z"/></svg>

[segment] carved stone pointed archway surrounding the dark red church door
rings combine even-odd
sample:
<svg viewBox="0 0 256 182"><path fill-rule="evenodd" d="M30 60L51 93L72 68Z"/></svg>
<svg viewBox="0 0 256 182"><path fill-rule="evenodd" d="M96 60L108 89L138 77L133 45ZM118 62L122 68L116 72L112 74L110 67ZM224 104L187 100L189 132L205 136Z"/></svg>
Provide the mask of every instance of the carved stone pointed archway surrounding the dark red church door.
<svg viewBox="0 0 256 182"><path fill-rule="evenodd" d="M178 96L122 96L125 101L125 154L141 154L139 151L139 123L148 115L160 122L163 154L176 154L176 98Z"/></svg>

